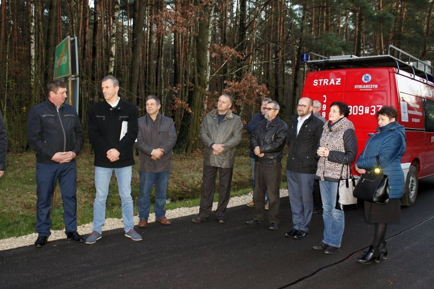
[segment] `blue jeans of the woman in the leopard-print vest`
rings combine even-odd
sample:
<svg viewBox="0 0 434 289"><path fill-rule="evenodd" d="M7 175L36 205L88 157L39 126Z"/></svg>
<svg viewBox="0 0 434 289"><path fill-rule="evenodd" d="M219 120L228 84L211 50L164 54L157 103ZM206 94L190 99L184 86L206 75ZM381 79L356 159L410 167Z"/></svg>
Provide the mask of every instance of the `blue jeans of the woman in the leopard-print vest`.
<svg viewBox="0 0 434 289"><path fill-rule="evenodd" d="M338 183L319 181L322 199L322 219L324 221L324 238L322 242L333 247L340 247L345 227L344 211L336 210Z"/></svg>

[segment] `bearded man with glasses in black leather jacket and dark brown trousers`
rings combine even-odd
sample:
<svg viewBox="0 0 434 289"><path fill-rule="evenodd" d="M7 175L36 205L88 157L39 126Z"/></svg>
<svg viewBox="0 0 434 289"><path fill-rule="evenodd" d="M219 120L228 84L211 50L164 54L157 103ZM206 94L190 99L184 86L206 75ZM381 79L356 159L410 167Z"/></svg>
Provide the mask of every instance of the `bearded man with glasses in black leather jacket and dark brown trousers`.
<svg viewBox="0 0 434 289"><path fill-rule="evenodd" d="M262 120L250 136L250 147L255 153L255 188L253 201L255 211L253 219L246 224L264 221L265 190L268 190L269 229L279 227L280 182L282 178L282 156L285 147L287 126L277 115L280 107L276 101L270 101L265 107L265 119Z"/></svg>

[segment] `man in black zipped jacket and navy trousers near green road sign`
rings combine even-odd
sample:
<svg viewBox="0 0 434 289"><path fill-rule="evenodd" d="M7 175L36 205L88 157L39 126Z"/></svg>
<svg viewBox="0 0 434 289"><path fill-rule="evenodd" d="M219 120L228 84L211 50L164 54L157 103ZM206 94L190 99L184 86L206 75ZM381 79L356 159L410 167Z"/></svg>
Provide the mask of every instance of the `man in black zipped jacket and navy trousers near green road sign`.
<svg viewBox="0 0 434 289"><path fill-rule="evenodd" d="M36 247L50 236L50 207L59 180L63 201L63 221L68 239L83 242L77 233L76 162L83 145L83 129L75 108L65 104L66 86L62 80L47 84L48 98L29 111L26 135L36 151Z"/></svg>

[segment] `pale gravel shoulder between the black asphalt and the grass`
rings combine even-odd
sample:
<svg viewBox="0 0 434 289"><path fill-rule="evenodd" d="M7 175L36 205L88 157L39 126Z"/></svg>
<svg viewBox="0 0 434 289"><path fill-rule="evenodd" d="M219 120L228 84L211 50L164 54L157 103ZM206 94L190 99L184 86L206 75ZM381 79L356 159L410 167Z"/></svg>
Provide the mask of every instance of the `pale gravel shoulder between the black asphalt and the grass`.
<svg viewBox="0 0 434 289"><path fill-rule="evenodd" d="M252 200L252 195L253 193L251 192L246 195L231 197L229 200L228 208L237 207L249 203L249 201ZM284 196L288 196L287 189L280 190L280 197L284 197ZM217 208L217 202L212 204L212 211L214 211L216 208ZM178 208L178 209L166 211L166 217L168 219L174 219L174 218L188 216L188 215L195 215L198 212L199 212L199 207ZM139 216L134 216L134 224L136 225L138 222L139 222ZM155 222L155 214L149 215L148 222ZM112 230L118 228L123 228L122 219L109 218L109 219L105 219L105 224L102 229ZM92 223L83 224L79 226L77 228L77 231L80 235L89 235L90 233L92 233ZM36 241L37 238L38 238L38 234L33 233L25 236L12 237L8 239L0 240L0 251L33 245L33 243ZM66 236L63 230L52 230L51 236L49 237L48 240L55 241L64 238L66 238Z"/></svg>

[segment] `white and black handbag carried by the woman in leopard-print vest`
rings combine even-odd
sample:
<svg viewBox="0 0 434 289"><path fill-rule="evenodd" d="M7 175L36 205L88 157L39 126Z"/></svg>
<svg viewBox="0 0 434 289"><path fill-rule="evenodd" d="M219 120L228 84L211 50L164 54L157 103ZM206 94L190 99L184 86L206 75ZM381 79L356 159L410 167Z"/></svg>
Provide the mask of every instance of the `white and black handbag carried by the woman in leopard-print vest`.
<svg viewBox="0 0 434 289"><path fill-rule="evenodd" d="M346 171L346 177L343 177L343 168L345 165L350 166L346 155L342 161L341 178L338 182L338 192L336 194L335 209L341 211L348 205L357 204L357 198L353 195L353 190L356 187L356 179L352 176L351 168L349 168L349 173L348 170Z"/></svg>

